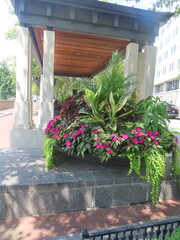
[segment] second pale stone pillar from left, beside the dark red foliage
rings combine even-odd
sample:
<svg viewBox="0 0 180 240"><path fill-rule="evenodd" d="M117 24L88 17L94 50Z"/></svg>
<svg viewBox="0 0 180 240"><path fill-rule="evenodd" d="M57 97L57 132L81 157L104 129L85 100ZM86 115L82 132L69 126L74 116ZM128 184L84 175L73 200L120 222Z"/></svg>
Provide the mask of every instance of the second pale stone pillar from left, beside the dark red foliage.
<svg viewBox="0 0 180 240"><path fill-rule="evenodd" d="M54 45L55 33L44 30L43 75L40 86L40 104L38 128L45 128L47 122L53 118L53 88L54 88Z"/></svg>

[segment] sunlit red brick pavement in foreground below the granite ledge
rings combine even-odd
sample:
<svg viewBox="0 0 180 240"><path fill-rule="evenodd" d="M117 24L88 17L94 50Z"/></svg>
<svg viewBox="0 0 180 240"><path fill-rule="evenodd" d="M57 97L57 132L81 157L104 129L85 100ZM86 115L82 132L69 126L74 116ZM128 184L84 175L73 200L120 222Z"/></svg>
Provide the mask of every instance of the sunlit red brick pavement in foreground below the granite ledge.
<svg viewBox="0 0 180 240"><path fill-rule="evenodd" d="M0 220L0 239L42 240L77 233L83 229L97 230L176 215L180 215L180 200L164 200L157 209L150 204L134 204Z"/></svg>

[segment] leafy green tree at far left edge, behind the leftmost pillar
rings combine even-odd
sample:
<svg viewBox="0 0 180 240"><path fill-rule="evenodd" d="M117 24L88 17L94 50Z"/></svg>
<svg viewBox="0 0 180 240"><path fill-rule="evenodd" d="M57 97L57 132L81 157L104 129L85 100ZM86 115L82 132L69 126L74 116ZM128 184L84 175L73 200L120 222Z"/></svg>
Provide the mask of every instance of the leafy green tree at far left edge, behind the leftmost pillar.
<svg viewBox="0 0 180 240"><path fill-rule="evenodd" d="M0 62L0 99L15 97L15 71L10 69L7 60Z"/></svg>

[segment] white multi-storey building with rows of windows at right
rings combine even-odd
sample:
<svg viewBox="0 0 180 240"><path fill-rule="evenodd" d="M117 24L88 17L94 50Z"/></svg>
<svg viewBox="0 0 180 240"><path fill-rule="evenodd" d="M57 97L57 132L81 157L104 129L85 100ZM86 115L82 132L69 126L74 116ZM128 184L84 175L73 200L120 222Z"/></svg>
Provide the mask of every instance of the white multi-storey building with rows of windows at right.
<svg viewBox="0 0 180 240"><path fill-rule="evenodd" d="M180 16L172 17L160 28L155 46L158 51L153 95L180 108Z"/></svg>

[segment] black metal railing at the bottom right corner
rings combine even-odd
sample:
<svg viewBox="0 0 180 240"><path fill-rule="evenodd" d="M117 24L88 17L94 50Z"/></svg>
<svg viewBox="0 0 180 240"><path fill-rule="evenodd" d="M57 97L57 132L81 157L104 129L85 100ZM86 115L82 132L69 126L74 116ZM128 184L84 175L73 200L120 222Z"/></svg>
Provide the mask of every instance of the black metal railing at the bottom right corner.
<svg viewBox="0 0 180 240"><path fill-rule="evenodd" d="M82 239L93 240L165 240L180 226L180 217L126 225L111 230L82 232Z"/></svg>

